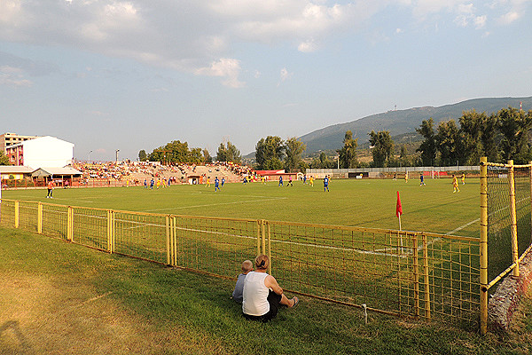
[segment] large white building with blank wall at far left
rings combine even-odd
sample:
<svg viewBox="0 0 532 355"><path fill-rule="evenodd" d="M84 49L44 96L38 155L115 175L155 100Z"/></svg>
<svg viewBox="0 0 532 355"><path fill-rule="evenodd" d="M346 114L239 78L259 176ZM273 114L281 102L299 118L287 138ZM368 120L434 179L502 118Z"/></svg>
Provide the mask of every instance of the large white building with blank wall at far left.
<svg viewBox="0 0 532 355"><path fill-rule="evenodd" d="M6 153L13 165L32 169L43 167L62 168L74 159L74 143L45 136L6 146Z"/></svg>

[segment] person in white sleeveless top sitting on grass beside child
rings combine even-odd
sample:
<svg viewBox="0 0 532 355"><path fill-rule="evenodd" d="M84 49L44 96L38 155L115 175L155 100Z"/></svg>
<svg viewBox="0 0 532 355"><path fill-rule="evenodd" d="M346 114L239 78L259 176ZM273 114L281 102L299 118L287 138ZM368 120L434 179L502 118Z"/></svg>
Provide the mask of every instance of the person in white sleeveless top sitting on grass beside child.
<svg viewBox="0 0 532 355"><path fill-rule="evenodd" d="M299 304L297 297L288 299L283 294L283 288L278 285L277 280L266 273L269 264L268 256L257 256L255 271L246 275L242 302L242 312L246 319L266 322L277 316L280 304L290 308Z"/></svg>

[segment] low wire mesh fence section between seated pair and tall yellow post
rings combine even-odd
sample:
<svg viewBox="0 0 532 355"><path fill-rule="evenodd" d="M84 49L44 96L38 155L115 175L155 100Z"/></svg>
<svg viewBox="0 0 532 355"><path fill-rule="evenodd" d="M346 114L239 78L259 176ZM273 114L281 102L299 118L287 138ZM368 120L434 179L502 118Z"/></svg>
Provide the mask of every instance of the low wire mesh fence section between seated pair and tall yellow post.
<svg viewBox="0 0 532 355"><path fill-rule="evenodd" d="M468 326L479 317L479 241L265 222L271 272L289 290L400 316Z"/></svg>

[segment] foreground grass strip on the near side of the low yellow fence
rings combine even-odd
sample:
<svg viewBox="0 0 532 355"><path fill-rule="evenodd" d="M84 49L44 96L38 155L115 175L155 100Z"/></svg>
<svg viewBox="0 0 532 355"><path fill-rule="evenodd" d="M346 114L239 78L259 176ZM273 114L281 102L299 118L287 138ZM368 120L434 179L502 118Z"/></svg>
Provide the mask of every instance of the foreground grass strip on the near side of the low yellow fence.
<svg viewBox="0 0 532 355"><path fill-rule="evenodd" d="M59 195L59 193L58 193ZM481 337L301 297L268 324L243 319L230 280L0 228L0 353L527 354L521 309L509 335ZM291 296L291 295L288 295ZM12 327L7 327L12 325ZM6 327L2 327L6 326ZM15 330L18 330L15 331Z"/></svg>

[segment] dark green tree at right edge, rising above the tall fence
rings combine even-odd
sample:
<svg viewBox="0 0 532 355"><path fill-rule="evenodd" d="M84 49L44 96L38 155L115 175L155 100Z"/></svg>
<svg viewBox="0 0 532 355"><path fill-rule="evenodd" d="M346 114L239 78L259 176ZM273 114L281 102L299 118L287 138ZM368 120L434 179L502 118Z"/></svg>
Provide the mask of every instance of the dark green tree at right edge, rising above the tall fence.
<svg viewBox="0 0 532 355"><path fill-rule="evenodd" d="M503 135L500 143L502 158L517 164L530 161L528 131L532 128L532 111L525 113L513 107L503 108L497 113L498 129Z"/></svg>

